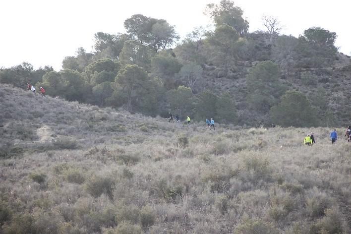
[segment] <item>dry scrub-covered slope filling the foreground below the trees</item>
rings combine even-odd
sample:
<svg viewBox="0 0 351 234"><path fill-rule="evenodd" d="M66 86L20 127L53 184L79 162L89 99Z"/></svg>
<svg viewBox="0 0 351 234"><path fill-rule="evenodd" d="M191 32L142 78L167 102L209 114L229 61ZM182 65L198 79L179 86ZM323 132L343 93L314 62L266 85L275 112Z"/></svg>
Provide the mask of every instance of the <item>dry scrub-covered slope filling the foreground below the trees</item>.
<svg viewBox="0 0 351 234"><path fill-rule="evenodd" d="M210 131L8 86L0 107L0 233L351 232L330 129Z"/></svg>

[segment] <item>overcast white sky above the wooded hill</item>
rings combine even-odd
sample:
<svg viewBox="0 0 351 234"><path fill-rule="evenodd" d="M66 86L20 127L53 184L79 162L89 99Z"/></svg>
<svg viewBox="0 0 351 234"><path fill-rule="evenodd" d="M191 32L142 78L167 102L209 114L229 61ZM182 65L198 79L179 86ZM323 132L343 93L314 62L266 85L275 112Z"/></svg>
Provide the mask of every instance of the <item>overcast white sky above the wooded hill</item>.
<svg viewBox="0 0 351 234"><path fill-rule="evenodd" d="M94 34L124 32L133 14L166 19L181 37L207 25L207 3L220 0L1 0L0 67L29 62L34 68L61 69L66 56L78 47L92 51ZM283 34L297 37L320 26L338 35L340 52L351 54L350 0L234 0L250 23L249 31L263 29L261 17L276 16Z"/></svg>

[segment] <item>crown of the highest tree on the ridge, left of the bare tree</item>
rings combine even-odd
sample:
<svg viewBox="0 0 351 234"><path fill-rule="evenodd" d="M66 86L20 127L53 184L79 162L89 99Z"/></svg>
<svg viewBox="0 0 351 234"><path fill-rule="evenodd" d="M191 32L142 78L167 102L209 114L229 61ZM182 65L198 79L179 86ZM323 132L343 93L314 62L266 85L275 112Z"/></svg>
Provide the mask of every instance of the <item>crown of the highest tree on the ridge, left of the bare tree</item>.
<svg viewBox="0 0 351 234"><path fill-rule="evenodd" d="M207 4L207 14L213 18L216 26L232 26L240 35L248 31L249 23L242 18L243 11L234 5L234 1L221 0L220 4Z"/></svg>

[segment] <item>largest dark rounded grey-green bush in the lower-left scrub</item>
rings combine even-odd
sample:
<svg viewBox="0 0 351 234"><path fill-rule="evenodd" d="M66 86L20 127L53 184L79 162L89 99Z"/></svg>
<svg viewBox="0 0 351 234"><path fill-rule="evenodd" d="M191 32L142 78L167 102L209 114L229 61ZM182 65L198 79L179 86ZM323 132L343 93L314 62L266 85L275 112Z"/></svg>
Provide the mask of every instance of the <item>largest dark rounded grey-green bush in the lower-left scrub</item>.
<svg viewBox="0 0 351 234"><path fill-rule="evenodd" d="M85 189L86 191L97 198L101 194L106 194L110 199L114 198L113 190L115 188L115 181L110 177L93 176L88 179Z"/></svg>

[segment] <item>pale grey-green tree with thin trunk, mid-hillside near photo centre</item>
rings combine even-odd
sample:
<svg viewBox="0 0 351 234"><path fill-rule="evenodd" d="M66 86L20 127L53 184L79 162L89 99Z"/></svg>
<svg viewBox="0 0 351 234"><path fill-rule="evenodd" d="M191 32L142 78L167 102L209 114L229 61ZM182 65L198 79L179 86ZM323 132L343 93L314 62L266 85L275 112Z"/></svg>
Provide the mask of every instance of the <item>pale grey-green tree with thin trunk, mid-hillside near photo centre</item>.
<svg viewBox="0 0 351 234"><path fill-rule="evenodd" d="M194 92L195 85L200 83L203 77L203 69L200 65L188 63L180 69L179 75L183 83L187 84L191 91Z"/></svg>

